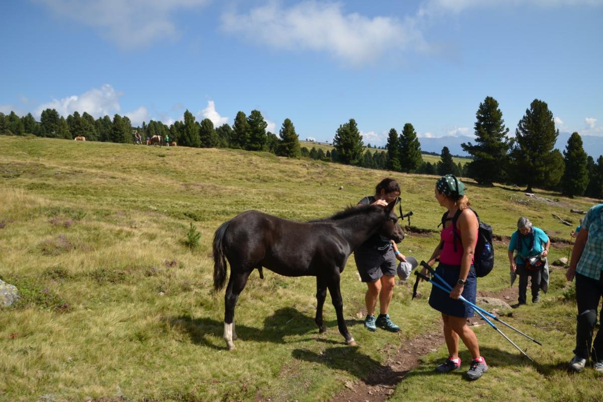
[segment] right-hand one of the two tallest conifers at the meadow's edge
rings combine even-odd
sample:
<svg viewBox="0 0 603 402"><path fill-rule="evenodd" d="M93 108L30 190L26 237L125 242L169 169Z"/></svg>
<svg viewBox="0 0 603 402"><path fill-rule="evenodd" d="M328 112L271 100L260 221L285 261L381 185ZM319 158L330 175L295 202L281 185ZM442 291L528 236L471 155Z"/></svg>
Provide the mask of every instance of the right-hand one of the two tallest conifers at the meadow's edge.
<svg viewBox="0 0 603 402"><path fill-rule="evenodd" d="M534 99L517 124L509 154L510 173L517 184L526 184L526 191L532 192L536 184L546 184L550 169L557 167L554 163L558 162L558 155L553 149L558 135L559 130L555 129L553 113L548 105Z"/></svg>

